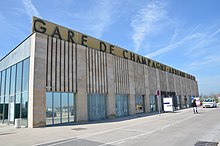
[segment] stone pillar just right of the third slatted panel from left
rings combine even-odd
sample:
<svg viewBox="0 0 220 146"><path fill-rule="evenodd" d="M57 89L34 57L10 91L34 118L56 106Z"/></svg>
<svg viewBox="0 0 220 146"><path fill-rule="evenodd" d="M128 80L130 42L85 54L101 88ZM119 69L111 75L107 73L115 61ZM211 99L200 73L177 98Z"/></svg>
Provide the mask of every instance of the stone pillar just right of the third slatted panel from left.
<svg viewBox="0 0 220 146"><path fill-rule="evenodd" d="M128 97L129 115L136 114L135 111L135 82L134 82L134 66L132 61L128 61L129 69L129 82L130 82L130 95Z"/></svg>

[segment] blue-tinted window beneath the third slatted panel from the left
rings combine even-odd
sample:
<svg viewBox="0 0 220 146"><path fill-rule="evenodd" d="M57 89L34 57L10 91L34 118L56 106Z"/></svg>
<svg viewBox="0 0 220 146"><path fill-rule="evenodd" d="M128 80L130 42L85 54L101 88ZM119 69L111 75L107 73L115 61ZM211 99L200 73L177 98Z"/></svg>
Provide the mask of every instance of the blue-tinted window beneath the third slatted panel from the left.
<svg viewBox="0 0 220 146"><path fill-rule="evenodd" d="M128 95L118 94L115 97L115 111L117 117L128 116Z"/></svg>

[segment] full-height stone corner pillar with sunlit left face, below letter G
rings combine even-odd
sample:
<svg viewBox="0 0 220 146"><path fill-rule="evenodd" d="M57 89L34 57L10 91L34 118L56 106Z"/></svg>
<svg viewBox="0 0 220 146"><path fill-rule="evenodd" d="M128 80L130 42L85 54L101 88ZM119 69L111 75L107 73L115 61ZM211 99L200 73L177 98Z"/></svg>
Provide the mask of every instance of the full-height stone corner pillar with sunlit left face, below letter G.
<svg viewBox="0 0 220 146"><path fill-rule="evenodd" d="M46 125L47 36L35 33L31 38L28 127Z"/></svg>

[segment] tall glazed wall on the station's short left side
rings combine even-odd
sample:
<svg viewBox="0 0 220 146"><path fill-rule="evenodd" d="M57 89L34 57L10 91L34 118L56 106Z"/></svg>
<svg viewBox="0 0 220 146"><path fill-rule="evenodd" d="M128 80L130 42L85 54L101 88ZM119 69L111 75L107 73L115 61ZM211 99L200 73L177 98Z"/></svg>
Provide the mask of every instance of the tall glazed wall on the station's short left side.
<svg viewBox="0 0 220 146"><path fill-rule="evenodd" d="M27 126L29 58L0 72L0 122Z"/></svg>

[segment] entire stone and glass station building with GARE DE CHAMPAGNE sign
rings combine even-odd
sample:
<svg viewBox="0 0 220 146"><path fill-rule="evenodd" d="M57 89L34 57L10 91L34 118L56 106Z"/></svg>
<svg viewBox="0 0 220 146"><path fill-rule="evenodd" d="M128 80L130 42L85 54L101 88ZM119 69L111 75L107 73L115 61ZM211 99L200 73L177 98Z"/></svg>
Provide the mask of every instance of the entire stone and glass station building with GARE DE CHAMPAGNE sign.
<svg viewBox="0 0 220 146"><path fill-rule="evenodd" d="M159 91L160 98L155 96ZM175 110L196 78L86 34L33 17L32 34L0 60L0 123L40 127Z"/></svg>

